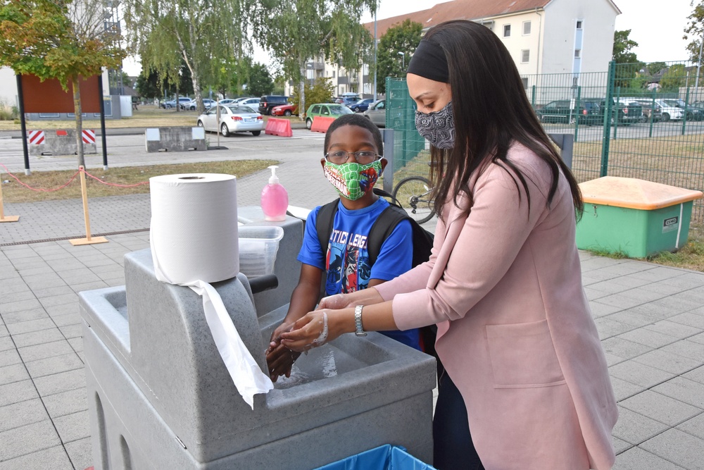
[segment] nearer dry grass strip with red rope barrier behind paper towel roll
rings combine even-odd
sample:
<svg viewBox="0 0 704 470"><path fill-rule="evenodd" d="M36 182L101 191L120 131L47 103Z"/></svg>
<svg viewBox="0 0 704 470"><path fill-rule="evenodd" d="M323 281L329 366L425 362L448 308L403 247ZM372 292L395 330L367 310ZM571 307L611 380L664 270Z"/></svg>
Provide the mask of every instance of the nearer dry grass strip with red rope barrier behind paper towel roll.
<svg viewBox="0 0 704 470"><path fill-rule="evenodd" d="M241 178L244 175L264 170L270 165L278 164L274 160L238 160L238 161L211 161L206 163L180 163L177 165L151 165L129 166L122 168L90 169L88 173L100 178L104 183L115 185L133 185L119 187L104 185L93 178L86 178L88 197L124 196L126 194L144 194L149 192L146 183L152 176L173 175L177 173L225 173ZM54 190L65 185L75 174L74 170L68 171L37 171L32 175L15 175L22 183L36 189ZM8 183L2 185L3 199L5 202L39 202L56 199L76 199L81 197L80 179L77 175L70 184L56 191L33 191L21 185L14 178L3 175Z"/></svg>

